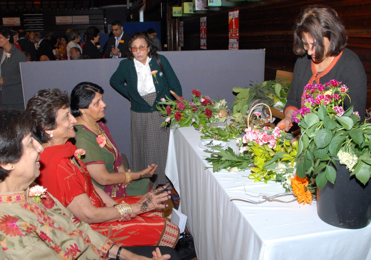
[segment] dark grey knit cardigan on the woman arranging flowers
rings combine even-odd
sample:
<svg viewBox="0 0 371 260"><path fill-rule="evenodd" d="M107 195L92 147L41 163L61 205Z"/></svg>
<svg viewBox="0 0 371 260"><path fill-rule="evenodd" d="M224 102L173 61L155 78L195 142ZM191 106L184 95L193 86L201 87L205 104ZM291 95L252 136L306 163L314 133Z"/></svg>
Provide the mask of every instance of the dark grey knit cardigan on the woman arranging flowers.
<svg viewBox="0 0 371 260"><path fill-rule="evenodd" d="M296 60L285 111L290 106L301 108L301 97L304 87L313 75L311 66L312 59L308 55L299 57ZM353 105L353 111L358 111L361 122L364 121L367 101L367 77L357 54L345 48L334 67L320 78L319 84L325 84L330 80L342 81L342 84L349 88L348 94L351 102L349 102L349 98L345 99L344 110Z"/></svg>

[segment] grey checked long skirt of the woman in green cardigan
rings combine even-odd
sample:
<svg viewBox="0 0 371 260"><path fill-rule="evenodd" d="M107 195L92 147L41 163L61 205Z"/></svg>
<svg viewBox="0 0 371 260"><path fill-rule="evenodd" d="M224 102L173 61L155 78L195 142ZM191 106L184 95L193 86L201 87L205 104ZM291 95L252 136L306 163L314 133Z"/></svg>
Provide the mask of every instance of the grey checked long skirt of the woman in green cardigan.
<svg viewBox="0 0 371 260"><path fill-rule="evenodd" d="M156 92L142 96L153 105ZM147 165L157 164L151 177L154 185L169 182L165 175L167 149L169 146L170 127L162 127L164 117L158 112L138 113L131 111L130 120L130 164L132 170L143 170Z"/></svg>

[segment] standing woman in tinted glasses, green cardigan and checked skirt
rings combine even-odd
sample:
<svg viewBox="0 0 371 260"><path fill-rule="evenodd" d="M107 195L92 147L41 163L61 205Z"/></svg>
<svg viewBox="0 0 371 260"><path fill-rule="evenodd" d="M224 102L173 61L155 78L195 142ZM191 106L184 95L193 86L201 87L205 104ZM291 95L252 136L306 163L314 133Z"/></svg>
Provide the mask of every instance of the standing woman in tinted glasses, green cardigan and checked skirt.
<svg viewBox="0 0 371 260"><path fill-rule="evenodd" d="M170 128L161 127L164 117L157 111L156 104L165 95L172 98L170 90L181 96L182 89L167 58L159 55L164 69L161 70L156 52L157 48L146 34L133 34L128 43L128 59L120 62L109 82L131 101L131 169L140 170L157 164L151 180L159 186L169 182L165 165ZM151 74L153 71L157 71L156 78Z"/></svg>

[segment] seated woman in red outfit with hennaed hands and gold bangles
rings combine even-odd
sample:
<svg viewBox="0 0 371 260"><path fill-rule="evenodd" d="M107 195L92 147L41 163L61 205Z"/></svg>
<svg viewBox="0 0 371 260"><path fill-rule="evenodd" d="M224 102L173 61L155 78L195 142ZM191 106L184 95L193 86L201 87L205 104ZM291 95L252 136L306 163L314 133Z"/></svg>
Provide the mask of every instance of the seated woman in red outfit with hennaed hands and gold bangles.
<svg viewBox="0 0 371 260"><path fill-rule="evenodd" d="M72 212L75 221L91 224L94 230L124 246L175 247L178 227L166 221L158 210L168 206L161 202L169 198L170 192L159 188L144 196L112 199L93 185L81 161L81 156L89 151L77 150L68 142L75 136L76 119L70 114L66 92L39 90L28 102L27 111L36 121L36 136L44 147L38 182ZM131 214L122 214L117 208L120 205Z"/></svg>

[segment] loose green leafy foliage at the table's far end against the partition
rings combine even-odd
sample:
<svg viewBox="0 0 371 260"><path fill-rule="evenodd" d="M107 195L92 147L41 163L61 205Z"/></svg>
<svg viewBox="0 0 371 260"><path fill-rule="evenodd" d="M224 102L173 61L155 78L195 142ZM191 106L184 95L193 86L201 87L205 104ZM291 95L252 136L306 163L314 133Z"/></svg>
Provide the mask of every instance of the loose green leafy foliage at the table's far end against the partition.
<svg viewBox="0 0 371 260"><path fill-rule="evenodd" d="M276 80L255 84L250 88L233 88L233 92L238 94L233 102L232 114L246 114L246 111L249 110L250 103L254 99L260 99L259 102L269 106L282 102L283 105L280 105L280 107L284 107L291 87L291 82L284 80L276 78Z"/></svg>

